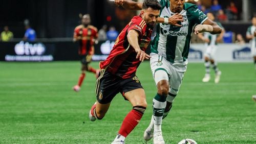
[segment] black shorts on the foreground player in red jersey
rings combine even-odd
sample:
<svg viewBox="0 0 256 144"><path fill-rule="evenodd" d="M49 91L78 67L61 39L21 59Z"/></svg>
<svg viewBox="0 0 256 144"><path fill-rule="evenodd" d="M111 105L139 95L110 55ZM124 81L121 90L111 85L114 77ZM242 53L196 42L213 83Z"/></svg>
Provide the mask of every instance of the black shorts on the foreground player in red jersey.
<svg viewBox="0 0 256 144"><path fill-rule="evenodd" d="M107 104L113 100L118 92L124 96L125 92L138 88L143 87L137 76L122 79L101 69L96 82L96 98L100 104Z"/></svg>

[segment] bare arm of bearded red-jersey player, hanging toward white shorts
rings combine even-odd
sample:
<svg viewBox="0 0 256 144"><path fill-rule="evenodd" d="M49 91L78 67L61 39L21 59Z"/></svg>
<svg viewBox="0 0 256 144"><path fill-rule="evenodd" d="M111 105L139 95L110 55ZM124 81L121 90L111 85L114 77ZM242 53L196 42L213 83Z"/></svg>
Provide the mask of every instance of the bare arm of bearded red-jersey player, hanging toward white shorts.
<svg viewBox="0 0 256 144"><path fill-rule="evenodd" d="M137 53L136 58L139 58L140 61L144 61L144 59L150 59L150 56L140 49L138 37L139 34L135 30L131 30L127 34L129 43L134 47L134 50Z"/></svg>

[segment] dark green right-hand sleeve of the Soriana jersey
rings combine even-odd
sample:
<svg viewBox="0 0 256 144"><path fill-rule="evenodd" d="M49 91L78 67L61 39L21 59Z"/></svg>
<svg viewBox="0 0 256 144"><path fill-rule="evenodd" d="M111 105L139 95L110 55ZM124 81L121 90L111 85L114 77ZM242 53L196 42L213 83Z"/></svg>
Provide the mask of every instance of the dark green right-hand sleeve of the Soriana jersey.
<svg viewBox="0 0 256 144"><path fill-rule="evenodd" d="M202 24L204 23L205 20L208 19L206 14L204 14L201 10L199 10L196 5L191 6L188 9L188 11L196 24Z"/></svg>

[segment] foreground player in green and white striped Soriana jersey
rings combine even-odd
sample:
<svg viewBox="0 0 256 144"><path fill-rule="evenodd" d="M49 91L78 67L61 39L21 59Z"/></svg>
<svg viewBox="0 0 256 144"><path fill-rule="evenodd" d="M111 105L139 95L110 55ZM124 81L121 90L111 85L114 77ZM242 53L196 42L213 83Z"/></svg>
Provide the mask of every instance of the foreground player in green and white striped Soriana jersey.
<svg viewBox="0 0 256 144"><path fill-rule="evenodd" d="M194 29L195 34L203 32L219 34L222 29L216 22L208 19L196 5L185 3L185 0L159 0L159 2L162 5L160 11L162 18L157 19L159 23L157 34L152 40L150 59L157 94L153 99L153 116L144 132L144 139L150 140L153 133L154 143L165 143L161 129L162 118L166 117L172 108L181 86L187 68L191 33ZM141 9L141 3L132 0L115 0L115 3L126 9ZM169 18L177 13L183 17L183 20L178 20L176 25L171 23Z"/></svg>

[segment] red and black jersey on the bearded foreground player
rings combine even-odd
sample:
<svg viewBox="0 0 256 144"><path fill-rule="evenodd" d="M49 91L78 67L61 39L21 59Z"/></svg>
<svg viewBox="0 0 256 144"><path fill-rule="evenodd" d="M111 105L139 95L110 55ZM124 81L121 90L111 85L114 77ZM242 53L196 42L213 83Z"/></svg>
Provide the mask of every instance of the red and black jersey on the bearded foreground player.
<svg viewBox="0 0 256 144"><path fill-rule="evenodd" d="M130 30L138 32L140 49L146 50L151 41L152 30L147 28L146 22L141 16L135 16L117 37L108 58L99 64L101 69L106 69L111 74L123 79L135 76L137 67L141 62L136 59L137 53L127 40L127 34Z"/></svg>

